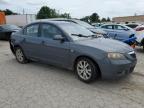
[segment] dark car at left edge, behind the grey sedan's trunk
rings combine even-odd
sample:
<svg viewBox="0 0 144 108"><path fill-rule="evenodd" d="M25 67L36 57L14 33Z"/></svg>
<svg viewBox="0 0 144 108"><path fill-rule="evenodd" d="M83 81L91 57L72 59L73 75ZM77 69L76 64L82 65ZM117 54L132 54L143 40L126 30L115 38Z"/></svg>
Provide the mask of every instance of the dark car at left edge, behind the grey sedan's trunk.
<svg viewBox="0 0 144 108"><path fill-rule="evenodd" d="M1 40L9 40L10 36L13 32L20 30L20 28L16 25L1 25L0 26L0 39Z"/></svg>

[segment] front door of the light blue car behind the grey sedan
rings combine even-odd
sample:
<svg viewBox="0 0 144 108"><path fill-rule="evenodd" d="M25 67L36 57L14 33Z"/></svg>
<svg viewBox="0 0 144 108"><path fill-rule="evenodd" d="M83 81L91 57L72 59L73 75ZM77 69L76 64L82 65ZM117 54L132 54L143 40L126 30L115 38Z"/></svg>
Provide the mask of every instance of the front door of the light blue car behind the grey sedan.
<svg viewBox="0 0 144 108"><path fill-rule="evenodd" d="M120 40L120 41L124 41L124 40L127 40L129 38L129 34L126 31L125 27L123 27L121 25L114 25L114 30L117 33L115 39Z"/></svg>

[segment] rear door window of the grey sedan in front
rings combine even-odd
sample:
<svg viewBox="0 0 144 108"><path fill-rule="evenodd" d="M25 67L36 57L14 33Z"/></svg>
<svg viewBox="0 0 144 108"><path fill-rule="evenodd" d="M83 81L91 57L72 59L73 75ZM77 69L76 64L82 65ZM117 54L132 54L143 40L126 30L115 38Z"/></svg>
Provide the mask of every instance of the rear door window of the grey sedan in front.
<svg viewBox="0 0 144 108"><path fill-rule="evenodd" d="M39 31L38 29L39 29L39 24L30 25L24 29L24 35L37 37Z"/></svg>

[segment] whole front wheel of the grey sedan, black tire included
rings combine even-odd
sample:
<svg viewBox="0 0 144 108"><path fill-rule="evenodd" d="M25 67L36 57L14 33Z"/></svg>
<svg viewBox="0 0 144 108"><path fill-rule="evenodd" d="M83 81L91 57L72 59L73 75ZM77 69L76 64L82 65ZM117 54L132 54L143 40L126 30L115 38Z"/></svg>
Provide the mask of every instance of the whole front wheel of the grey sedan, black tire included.
<svg viewBox="0 0 144 108"><path fill-rule="evenodd" d="M85 82L90 83L99 77L99 69L96 64L89 58L79 58L75 64L75 72L78 78Z"/></svg>

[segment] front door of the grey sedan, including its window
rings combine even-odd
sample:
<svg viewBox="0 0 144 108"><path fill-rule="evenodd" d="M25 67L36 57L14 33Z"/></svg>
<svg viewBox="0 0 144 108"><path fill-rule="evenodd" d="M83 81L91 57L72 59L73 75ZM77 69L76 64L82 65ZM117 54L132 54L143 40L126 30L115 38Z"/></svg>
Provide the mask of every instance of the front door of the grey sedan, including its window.
<svg viewBox="0 0 144 108"><path fill-rule="evenodd" d="M42 55L43 61L53 64L67 66L70 57L70 45L65 41L54 40L54 36L64 36L63 32L56 26L43 23L41 24L41 38L43 39Z"/></svg>

